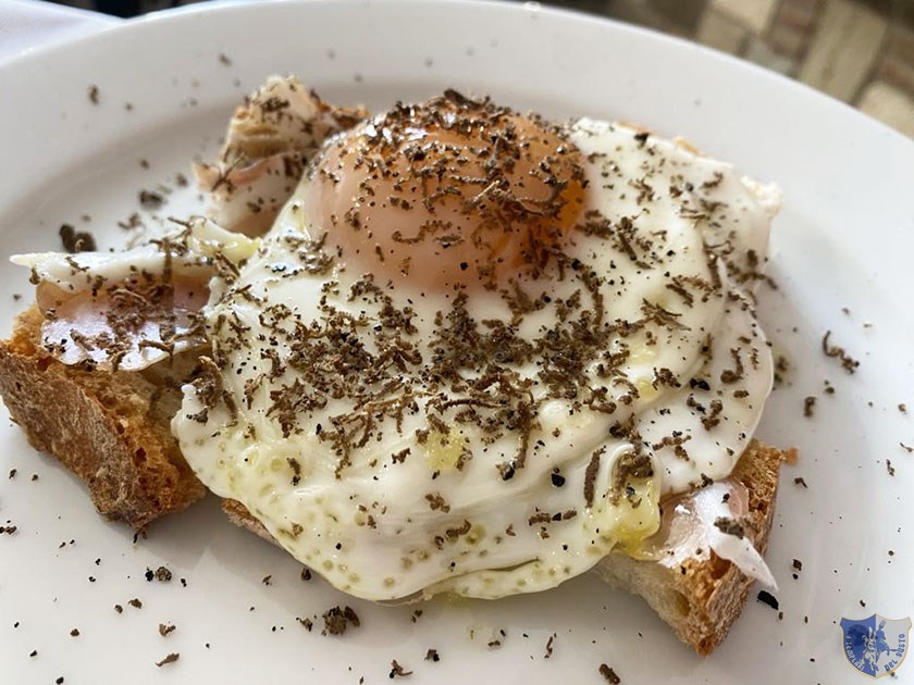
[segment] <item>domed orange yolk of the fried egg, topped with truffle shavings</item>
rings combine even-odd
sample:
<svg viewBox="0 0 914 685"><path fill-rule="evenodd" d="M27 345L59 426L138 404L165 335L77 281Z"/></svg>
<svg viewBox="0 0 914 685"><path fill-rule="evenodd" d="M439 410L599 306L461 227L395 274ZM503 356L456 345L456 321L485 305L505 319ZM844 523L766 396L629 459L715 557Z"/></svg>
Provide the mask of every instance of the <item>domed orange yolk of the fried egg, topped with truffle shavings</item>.
<svg viewBox="0 0 914 685"><path fill-rule="evenodd" d="M573 145L454 91L342 134L310 177L306 216L350 269L424 288L535 276L584 204Z"/></svg>

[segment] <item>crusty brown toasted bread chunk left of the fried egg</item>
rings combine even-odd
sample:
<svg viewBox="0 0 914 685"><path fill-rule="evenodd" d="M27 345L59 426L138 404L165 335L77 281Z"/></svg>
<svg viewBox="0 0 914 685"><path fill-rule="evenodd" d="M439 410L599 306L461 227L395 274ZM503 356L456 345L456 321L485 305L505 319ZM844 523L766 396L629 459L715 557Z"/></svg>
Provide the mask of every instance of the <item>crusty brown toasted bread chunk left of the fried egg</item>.
<svg viewBox="0 0 914 685"><path fill-rule="evenodd" d="M141 530L206 494L170 431L193 360L149 374L64 365L39 344L33 306L0 342L0 394L38 450L86 482L98 512Z"/></svg>

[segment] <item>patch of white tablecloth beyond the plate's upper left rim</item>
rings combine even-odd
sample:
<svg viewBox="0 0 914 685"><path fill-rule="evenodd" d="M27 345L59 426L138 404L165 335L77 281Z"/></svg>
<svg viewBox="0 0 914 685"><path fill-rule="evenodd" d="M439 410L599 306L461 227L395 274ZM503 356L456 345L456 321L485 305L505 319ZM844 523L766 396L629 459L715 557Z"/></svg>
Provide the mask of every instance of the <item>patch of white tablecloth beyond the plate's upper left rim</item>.
<svg viewBox="0 0 914 685"><path fill-rule="evenodd" d="M0 0L0 61L119 21L40 0Z"/></svg>

